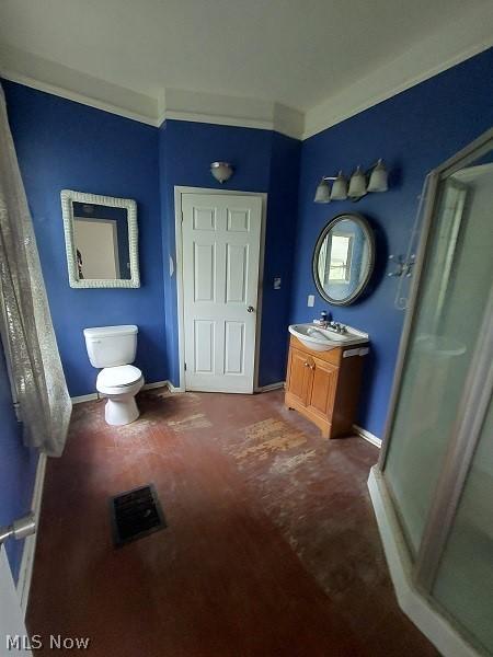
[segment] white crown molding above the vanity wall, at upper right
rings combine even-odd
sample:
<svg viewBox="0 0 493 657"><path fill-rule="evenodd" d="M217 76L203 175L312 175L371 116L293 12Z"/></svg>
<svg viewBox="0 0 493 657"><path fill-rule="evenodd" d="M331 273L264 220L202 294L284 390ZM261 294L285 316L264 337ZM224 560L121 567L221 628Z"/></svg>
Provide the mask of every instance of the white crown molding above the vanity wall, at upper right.
<svg viewBox="0 0 493 657"><path fill-rule="evenodd" d="M471 11L461 21L445 24L401 56L309 110L305 115L302 139L486 50L493 45L492 35L493 3L486 2L480 10Z"/></svg>

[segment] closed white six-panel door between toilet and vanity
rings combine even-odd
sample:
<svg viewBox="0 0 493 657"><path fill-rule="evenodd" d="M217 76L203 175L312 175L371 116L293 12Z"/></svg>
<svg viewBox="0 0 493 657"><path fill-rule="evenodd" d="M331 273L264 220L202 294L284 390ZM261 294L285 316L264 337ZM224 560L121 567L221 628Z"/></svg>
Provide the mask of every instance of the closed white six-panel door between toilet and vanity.
<svg viewBox="0 0 493 657"><path fill-rule="evenodd" d="M183 194L186 390L253 392L262 199Z"/></svg>

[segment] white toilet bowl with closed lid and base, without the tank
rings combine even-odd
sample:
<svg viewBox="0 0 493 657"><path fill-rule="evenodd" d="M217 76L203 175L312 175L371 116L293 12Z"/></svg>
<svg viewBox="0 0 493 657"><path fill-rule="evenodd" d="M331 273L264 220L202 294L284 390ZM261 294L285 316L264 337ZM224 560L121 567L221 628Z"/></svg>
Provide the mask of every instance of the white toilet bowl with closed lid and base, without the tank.
<svg viewBox="0 0 493 657"><path fill-rule="evenodd" d="M133 365L105 367L98 374L96 390L107 397L104 417L108 425L135 422L139 410L135 395L144 385L142 372Z"/></svg>

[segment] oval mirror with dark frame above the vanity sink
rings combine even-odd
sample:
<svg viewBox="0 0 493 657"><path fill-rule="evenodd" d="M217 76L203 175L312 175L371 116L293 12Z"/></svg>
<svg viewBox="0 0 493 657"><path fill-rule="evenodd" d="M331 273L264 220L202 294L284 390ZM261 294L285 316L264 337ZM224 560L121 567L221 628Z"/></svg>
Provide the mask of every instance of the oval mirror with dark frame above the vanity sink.
<svg viewBox="0 0 493 657"><path fill-rule="evenodd" d="M320 295L333 306L349 306L374 270L375 239L362 215L334 217L317 240L312 272Z"/></svg>

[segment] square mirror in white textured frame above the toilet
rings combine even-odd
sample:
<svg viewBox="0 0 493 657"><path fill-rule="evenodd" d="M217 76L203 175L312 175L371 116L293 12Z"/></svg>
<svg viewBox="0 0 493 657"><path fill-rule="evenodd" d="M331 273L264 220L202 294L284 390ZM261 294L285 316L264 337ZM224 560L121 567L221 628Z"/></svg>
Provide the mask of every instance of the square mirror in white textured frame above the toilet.
<svg viewBox="0 0 493 657"><path fill-rule="evenodd" d="M70 287L140 287L135 200L72 189L60 198Z"/></svg>

